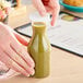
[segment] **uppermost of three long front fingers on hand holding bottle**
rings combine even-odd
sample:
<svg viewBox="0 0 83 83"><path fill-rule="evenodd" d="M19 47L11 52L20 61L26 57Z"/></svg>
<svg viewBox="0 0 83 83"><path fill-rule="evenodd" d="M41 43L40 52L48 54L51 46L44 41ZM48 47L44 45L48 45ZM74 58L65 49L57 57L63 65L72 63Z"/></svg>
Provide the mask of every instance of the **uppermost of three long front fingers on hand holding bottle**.
<svg viewBox="0 0 83 83"><path fill-rule="evenodd" d="M19 43L16 43L16 42L13 43L12 42L11 43L11 47L13 48L13 50L17 55L20 55L23 58L23 60L29 66L29 68L34 68L35 67L35 63L34 63L33 59L29 57L29 55L27 54L27 51L25 51L22 48L22 46Z"/></svg>

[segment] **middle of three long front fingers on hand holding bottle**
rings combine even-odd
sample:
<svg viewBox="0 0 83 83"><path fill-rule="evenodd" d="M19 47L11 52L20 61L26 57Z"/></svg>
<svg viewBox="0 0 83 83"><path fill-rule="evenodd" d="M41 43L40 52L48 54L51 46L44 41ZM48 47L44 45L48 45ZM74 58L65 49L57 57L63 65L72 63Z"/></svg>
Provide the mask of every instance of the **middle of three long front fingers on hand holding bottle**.
<svg viewBox="0 0 83 83"><path fill-rule="evenodd" d="M34 69L29 68L28 64L15 52L13 48L9 48L5 52L13 61L15 61L21 68L23 68L28 74L34 74Z"/></svg>

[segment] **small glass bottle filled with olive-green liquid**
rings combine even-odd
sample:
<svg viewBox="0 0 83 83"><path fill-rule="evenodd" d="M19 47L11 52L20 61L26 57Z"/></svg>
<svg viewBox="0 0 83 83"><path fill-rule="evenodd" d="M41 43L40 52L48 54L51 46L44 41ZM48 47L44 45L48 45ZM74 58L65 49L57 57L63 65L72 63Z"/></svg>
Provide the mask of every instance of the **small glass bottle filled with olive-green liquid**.
<svg viewBox="0 0 83 83"><path fill-rule="evenodd" d="M35 78L46 78L50 72L50 43L46 35L46 24L33 23L33 36L28 44L28 54L35 62Z"/></svg>

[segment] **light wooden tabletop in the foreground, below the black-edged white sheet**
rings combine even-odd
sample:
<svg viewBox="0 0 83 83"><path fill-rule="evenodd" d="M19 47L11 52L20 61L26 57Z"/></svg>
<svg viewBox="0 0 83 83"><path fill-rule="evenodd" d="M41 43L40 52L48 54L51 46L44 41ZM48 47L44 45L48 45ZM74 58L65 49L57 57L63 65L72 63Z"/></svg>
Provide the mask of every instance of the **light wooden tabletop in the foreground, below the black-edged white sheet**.
<svg viewBox="0 0 83 83"><path fill-rule="evenodd" d="M0 83L83 83L83 58L58 48L51 50L51 72L46 79L14 76Z"/></svg>

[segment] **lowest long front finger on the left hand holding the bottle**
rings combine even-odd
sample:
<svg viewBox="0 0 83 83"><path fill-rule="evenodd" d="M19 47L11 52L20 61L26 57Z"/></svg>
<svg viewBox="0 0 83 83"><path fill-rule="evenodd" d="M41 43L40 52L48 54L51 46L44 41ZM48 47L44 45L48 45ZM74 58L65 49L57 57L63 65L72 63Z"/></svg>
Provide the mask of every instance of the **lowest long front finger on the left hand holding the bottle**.
<svg viewBox="0 0 83 83"><path fill-rule="evenodd" d="M16 72L21 72L22 74L28 76L29 74L21 68L15 61L13 61L4 51L0 48L0 61L5 63L8 68L15 70Z"/></svg>

